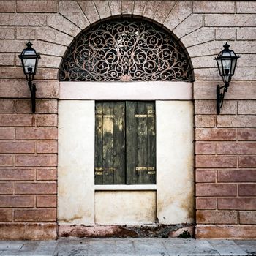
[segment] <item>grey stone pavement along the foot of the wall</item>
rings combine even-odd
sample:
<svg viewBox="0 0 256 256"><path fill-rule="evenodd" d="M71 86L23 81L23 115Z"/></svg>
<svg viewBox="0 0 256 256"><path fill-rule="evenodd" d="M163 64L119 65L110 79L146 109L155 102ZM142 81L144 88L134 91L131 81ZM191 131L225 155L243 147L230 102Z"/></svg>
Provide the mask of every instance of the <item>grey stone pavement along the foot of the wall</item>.
<svg viewBox="0 0 256 256"><path fill-rule="evenodd" d="M0 255L256 256L256 240L59 238L56 241L0 241Z"/></svg>

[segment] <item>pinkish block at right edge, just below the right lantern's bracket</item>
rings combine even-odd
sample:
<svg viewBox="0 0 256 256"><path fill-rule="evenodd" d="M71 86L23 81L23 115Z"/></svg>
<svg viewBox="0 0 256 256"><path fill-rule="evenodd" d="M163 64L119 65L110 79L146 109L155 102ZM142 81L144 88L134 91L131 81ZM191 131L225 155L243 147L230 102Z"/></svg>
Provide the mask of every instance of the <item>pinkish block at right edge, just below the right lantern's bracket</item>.
<svg viewBox="0 0 256 256"><path fill-rule="evenodd" d="M256 116L217 116L217 127L256 127Z"/></svg>

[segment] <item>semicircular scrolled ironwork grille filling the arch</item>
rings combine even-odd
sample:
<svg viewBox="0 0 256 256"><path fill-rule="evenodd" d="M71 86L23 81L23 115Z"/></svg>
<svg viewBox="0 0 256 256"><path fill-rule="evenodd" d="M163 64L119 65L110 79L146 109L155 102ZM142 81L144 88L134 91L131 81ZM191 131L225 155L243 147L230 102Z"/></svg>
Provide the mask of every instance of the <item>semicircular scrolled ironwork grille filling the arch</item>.
<svg viewBox="0 0 256 256"><path fill-rule="evenodd" d="M171 34L145 20L99 23L72 42L61 81L192 81L186 50Z"/></svg>

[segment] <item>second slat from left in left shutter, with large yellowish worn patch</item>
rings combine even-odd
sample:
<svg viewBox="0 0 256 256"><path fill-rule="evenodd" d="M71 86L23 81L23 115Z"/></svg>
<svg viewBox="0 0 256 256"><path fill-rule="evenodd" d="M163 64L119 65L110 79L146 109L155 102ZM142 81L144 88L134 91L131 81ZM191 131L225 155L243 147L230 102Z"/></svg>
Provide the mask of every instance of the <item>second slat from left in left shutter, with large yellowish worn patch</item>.
<svg viewBox="0 0 256 256"><path fill-rule="evenodd" d="M110 116L113 114L113 102L103 102L103 168L114 167L114 118ZM113 170L103 170L103 184L114 184Z"/></svg>

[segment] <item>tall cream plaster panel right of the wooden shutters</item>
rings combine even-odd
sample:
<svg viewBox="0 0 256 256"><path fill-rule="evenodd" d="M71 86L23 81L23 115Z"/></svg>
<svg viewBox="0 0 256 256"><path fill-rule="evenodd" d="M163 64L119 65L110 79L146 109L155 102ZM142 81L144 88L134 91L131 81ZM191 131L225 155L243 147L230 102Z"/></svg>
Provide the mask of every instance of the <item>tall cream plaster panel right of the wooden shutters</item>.
<svg viewBox="0 0 256 256"><path fill-rule="evenodd" d="M157 101L157 218L193 222L193 105Z"/></svg>

